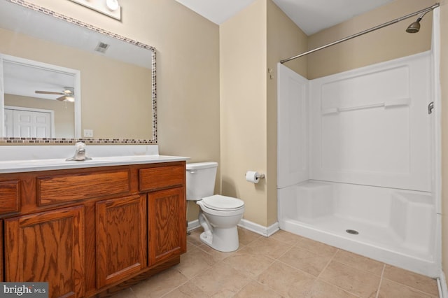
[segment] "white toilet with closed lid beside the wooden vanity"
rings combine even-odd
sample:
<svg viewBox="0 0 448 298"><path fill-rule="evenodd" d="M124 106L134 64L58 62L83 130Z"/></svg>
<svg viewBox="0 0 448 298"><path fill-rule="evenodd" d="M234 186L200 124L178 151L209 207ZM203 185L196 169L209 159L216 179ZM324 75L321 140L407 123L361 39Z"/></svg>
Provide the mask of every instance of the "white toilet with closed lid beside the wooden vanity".
<svg viewBox="0 0 448 298"><path fill-rule="evenodd" d="M244 201L214 194L217 162L187 164L187 200L200 206L200 239L222 252L239 247L237 224L243 217Z"/></svg>

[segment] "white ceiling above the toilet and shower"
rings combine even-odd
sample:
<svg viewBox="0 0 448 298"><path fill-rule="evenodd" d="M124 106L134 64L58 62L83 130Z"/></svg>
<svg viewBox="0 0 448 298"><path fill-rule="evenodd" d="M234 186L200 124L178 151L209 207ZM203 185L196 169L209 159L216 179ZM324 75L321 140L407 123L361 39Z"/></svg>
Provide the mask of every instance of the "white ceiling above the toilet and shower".
<svg viewBox="0 0 448 298"><path fill-rule="evenodd" d="M255 0L176 0L215 24L222 24ZM394 0L273 0L305 34L349 20Z"/></svg>

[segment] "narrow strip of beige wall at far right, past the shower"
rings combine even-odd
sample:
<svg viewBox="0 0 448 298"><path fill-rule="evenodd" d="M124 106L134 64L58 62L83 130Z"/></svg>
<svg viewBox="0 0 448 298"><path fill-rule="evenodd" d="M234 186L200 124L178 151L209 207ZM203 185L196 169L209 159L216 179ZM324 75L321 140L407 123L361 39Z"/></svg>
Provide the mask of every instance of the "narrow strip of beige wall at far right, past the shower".
<svg viewBox="0 0 448 298"><path fill-rule="evenodd" d="M440 82L442 89L442 267L448 276L448 3L440 6L441 61ZM447 284L448 286L448 284Z"/></svg>

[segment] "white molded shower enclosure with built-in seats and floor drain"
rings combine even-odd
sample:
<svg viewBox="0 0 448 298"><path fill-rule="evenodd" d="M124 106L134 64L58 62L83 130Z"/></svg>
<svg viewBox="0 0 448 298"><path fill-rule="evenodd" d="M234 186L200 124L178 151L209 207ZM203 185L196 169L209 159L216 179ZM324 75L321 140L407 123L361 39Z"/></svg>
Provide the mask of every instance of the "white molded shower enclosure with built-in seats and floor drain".
<svg viewBox="0 0 448 298"><path fill-rule="evenodd" d="M439 276L432 59L315 80L278 64L281 229Z"/></svg>

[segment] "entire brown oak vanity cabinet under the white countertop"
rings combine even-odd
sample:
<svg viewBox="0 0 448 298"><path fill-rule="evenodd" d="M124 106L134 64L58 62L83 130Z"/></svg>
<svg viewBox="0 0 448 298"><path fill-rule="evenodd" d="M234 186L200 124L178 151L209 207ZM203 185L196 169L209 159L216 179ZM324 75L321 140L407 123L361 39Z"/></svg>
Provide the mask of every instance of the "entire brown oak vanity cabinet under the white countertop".
<svg viewBox="0 0 448 298"><path fill-rule="evenodd" d="M106 297L186 252L183 161L0 174L0 190L0 281Z"/></svg>

